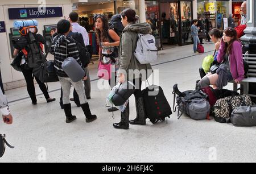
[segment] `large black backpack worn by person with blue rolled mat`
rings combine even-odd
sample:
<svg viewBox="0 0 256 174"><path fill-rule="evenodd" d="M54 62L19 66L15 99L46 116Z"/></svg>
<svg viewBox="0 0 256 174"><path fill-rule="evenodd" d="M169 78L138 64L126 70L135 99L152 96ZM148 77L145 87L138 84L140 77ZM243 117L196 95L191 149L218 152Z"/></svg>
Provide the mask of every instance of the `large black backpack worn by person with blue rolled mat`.
<svg viewBox="0 0 256 174"><path fill-rule="evenodd" d="M46 61L43 49L40 47L39 41L35 38L32 32L28 33L28 42L26 46L27 51L27 64L30 68L40 66L39 61Z"/></svg>

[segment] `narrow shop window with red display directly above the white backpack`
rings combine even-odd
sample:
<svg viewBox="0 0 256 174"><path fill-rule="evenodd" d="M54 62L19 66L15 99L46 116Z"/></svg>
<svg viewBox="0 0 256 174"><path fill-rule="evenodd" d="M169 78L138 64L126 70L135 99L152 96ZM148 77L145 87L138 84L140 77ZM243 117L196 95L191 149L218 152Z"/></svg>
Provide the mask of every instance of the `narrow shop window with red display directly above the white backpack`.
<svg viewBox="0 0 256 174"><path fill-rule="evenodd" d="M146 22L150 24L152 28L152 35L155 36L156 47L160 48L160 28L159 28L159 4L157 1L146 1Z"/></svg>

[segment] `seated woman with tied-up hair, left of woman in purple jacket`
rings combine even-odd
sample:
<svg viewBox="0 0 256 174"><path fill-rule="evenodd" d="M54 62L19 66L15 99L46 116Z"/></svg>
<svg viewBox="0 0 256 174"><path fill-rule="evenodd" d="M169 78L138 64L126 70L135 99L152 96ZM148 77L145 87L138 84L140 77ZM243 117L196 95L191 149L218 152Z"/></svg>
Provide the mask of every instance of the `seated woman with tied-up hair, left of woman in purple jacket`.
<svg viewBox="0 0 256 174"><path fill-rule="evenodd" d="M212 65L214 65L217 63L217 55L218 55L218 49L220 48L220 40L221 40L222 33L217 28L213 28L212 30L209 31L209 36L210 36L210 39L212 39L212 42L215 44L215 51L213 54L214 61L212 63ZM206 73L202 67L199 68L199 73L201 78L206 76Z"/></svg>

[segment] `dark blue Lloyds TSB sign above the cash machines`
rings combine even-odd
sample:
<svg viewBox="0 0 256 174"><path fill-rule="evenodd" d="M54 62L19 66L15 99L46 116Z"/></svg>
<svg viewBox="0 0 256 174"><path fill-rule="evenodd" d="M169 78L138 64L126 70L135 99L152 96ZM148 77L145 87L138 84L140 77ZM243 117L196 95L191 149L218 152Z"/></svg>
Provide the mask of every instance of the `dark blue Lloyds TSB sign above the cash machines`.
<svg viewBox="0 0 256 174"><path fill-rule="evenodd" d="M44 10L38 8L13 8L8 9L9 19L35 19L62 17L62 7L46 7Z"/></svg>

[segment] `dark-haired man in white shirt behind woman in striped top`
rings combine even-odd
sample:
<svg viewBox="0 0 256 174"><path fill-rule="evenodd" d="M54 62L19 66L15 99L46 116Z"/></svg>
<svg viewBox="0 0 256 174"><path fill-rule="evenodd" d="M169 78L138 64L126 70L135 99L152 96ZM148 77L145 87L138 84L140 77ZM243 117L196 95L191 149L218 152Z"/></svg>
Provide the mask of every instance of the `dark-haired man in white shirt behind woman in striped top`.
<svg viewBox="0 0 256 174"><path fill-rule="evenodd" d="M88 49L87 46L90 44L88 32L86 31L85 27L82 27L82 26L80 26L79 23L77 23L79 20L79 14L76 12L71 12L69 14L68 19L69 19L69 22L71 22L72 31L82 34L82 38L84 39L84 44L85 44L86 48ZM90 74L89 74L88 67L85 68L85 72L86 72L86 77L87 77L87 80L84 81L85 95L86 95L87 99L90 99L91 85L90 85ZM73 98L71 100L73 101Z"/></svg>

